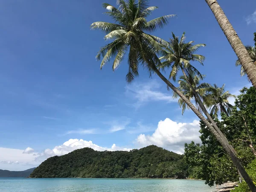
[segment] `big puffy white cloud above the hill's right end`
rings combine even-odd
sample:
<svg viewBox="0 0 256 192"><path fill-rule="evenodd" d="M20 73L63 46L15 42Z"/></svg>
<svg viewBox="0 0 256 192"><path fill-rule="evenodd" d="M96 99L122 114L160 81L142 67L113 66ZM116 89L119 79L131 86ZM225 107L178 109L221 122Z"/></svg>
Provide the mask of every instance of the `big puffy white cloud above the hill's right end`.
<svg viewBox="0 0 256 192"><path fill-rule="evenodd" d="M190 143L192 140L201 143L199 130L198 120L194 120L192 123L177 123L166 118L164 121L158 122L157 129L152 135L140 134L135 143L140 147L157 145L182 154L184 143Z"/></svg>

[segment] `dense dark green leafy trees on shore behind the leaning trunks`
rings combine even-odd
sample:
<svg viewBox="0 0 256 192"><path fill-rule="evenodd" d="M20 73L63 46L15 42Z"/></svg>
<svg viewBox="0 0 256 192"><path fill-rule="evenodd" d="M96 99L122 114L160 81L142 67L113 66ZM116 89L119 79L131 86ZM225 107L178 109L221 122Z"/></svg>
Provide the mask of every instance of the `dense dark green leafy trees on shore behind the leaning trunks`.
<svg viewBox="0 0 256 192"><path fill-rule="evenodd" d="M236 107L230 116L221 114L222 121L215 119L218 127L225 134L238 153L243 166L255 159L256 145L256 89L243 88L236 99ZM206 180L212 186L227 181L238 180L236 167L220 143L201 122L200 139L202 145L185 144L185 159L189 165L189 177Z"/></svg>

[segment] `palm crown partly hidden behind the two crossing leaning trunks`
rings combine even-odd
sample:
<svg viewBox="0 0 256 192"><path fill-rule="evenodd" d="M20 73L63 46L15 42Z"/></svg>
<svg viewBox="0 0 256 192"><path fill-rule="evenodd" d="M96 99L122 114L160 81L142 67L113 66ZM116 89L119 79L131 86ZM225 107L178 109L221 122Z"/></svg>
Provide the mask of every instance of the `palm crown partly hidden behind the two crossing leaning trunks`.
<svg viewBox="0 0 256 192"><path fill-rule="evenodd" d="M202 77L204 78L205 76L202 75ZM186 96L187 99L194 100L195 106L198 108L198 111L201 111L201 108L200 108L197 100L195 99L195 95L194 95L193 90L190 85L192 84L192 87L194 88L196 93L198 93L198 95L202 98L205 95L205 93L207 92L208 88L210 87L210 84L200 83L200 81L202 79L198 76L194 76L194 78L190 79L190 80L191 80L191 82L188 83L185 76L180 76L180 80L178 81L178 84L180 86L177 87L177 89L180 90L180 92L183 93L183 95ZM177 93L174 92L173 97L177 98L179 96L177 95ZM186 109L189 109L189 106L186 105L186 103L182 99L179 99L178 103L179 103L180 107L182 108L182 114L184 113L184 111Z"/></svg>

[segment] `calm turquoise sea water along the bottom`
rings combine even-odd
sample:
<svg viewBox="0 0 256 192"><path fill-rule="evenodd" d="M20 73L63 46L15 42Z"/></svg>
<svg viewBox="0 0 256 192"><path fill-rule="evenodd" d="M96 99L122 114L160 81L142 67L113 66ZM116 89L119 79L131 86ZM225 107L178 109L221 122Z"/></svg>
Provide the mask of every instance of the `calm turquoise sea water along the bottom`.
<svg viewBox="0 0 256 192"><path fill-rule="evenodd" d="M204 181L178 179L29 179L0 177L0 192L212 192Z"/></svg>

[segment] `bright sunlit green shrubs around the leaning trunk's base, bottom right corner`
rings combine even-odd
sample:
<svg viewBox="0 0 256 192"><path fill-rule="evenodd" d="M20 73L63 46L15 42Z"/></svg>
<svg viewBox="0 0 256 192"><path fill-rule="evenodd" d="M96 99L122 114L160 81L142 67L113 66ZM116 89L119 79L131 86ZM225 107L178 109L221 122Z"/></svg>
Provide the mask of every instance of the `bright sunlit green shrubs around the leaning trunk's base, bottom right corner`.
<svg viewBox="0 0 256 192"><path fill-rule="evenodd" d="M256 160L253 160L247 167L246 172L250 176L250 178L253 180L253 183L256 184ZM250 192L250 189L244 181L239 184L238 187L235 187L235 189L231 190L231 192Z"/></svg>

